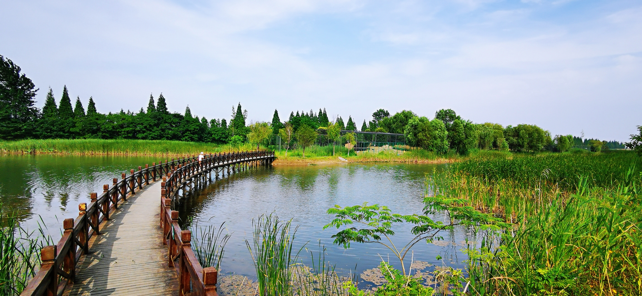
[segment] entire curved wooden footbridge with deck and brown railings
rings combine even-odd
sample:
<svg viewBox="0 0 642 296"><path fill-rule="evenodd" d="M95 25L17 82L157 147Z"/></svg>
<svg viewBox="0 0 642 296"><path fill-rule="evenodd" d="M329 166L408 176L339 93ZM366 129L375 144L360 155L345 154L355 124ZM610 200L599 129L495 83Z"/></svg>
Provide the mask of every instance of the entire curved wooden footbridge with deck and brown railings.
<svg viewBox="0 0 642 296"><path fill-rule="evenodd" d="M273 160L272 151L209 154L114 178L100 195L91 193L89 205L78 206L78 217L64 220L60 242L42 248L40 270L21 296L216 296L216 268L198 263L191 232L180 229L172 205L213 174L218 179Z"/></svg>

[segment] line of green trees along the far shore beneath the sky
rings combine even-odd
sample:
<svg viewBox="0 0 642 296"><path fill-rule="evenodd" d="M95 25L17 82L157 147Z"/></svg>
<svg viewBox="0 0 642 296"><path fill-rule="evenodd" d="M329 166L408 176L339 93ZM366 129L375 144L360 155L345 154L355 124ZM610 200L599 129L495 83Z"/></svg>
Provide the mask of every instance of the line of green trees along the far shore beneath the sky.
<svg viewBox="0 0 642 296"><path fill-rule="evenodd" d="M297 135L313 131L327 135L339 142L350 142L340 131L372 131L377 133L403 134L406 144L428 151L445 153L456 151L467 154L471 149L498 149L512 151L568 151L574 145L591 147L594 151L623 147L622 143L596 139L583 139L572 135L551 136L549 131L530 124L503 127L486 122L474 124L462 119L450 109L438 110L433 119L419 116L410 110L391 115L379 109L372 113L372 120L363 120L358 129L352 116L344 123L337 116L329 119L325 108L318 112L310 110L291 111L288 120L282 122L279 112L274 110L272 122L247 125L247 110L239 103L232 107L231 119L211 119L192 114L189 106L183 114L169 112L166 99L150 95L147 108L137 112L121 110L117 113L100 113L96 103L89 97L87 108L80 97L71 103L67 86L56 103L53 90L49 88L42 110L34 106L38 91L31 79L21 74L21 69L11 60L0 56L0 138L17 140L23 138L101 138L101 139L144 139L181 140L191 142L241 143L256 142L258 129L267 130L269 135L288 135L290 143ZM287 127L287 128L286 128ZM288 130L286 130L288 129ZM265 140L269 135L263 136ZM338 136L337 136L338 135ZM308 135L308 138L311 136Z"/></svg>

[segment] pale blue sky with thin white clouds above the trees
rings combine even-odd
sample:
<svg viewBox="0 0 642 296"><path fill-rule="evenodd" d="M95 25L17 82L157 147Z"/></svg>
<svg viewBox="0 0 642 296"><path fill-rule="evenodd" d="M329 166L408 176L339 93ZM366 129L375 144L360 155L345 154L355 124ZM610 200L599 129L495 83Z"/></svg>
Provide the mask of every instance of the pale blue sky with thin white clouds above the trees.
<svg viewBox="0 0 642 296"><path fill-rule="evenodd" d="M640 1L3 1L0 54L98 110L250 120L378 108L628 140L642 124Z"/></svg>

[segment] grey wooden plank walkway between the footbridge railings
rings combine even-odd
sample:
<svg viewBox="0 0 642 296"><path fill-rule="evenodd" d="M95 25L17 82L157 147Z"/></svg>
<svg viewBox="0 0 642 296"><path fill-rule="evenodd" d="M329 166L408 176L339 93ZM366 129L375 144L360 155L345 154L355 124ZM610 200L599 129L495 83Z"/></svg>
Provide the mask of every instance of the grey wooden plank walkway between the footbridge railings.
<svg viewBox="0 0 642 296"><path fill-rule="evenodd" d="M178 295L159 226L160 181L119 206L92 236L76 265L76 281L64 295Z"/></svg>

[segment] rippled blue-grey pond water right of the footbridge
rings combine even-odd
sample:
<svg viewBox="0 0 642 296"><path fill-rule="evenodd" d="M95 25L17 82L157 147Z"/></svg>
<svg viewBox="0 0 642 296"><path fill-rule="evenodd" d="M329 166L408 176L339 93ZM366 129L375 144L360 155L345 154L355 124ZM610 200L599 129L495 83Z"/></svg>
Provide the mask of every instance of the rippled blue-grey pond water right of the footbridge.
<svg viewBox="0 0 642 296"><path fill-rule="evenodd" d="M318 243L324 244L327 247L325 259L340 270L354 272L356 265L361 272L376 267L381 258L389 258L390 263L399 265L392 252L377 243L352 243L351 249L347 250L333 245L331 236L337 230L322 229L333 218L326 211L335 204L353 206L369 202L386 205L394 213L421 214L426 174L442 169L443 165L275 165L232 174L229 179L216 181L188 196L179 204L180 218L183 227L187 226L190 217L202 221L199 224L203 225L225 222L233 234L221 264L223 272L247 275L250 279L256 275L245 240L252 240L252 218L272 212L282 219L292 218L293 225L299 226L298 247L309 242L306 247L317 251ZM444 220L446 217L437 215L433 218ZM414 237L410 227L393 228L395 244L404 245ZM465 229L456 229L451 233L440 233L440 236L446 241L417 243L412 249L414 255L408 253L406 266L414 256L415 260L433 265L445 263L462 267L466 258L460 251L464 248L462 241L472 235ZM442 256L443 261L437 260L437 255ZM308 254L303 256L309 258Z"/></svg>

